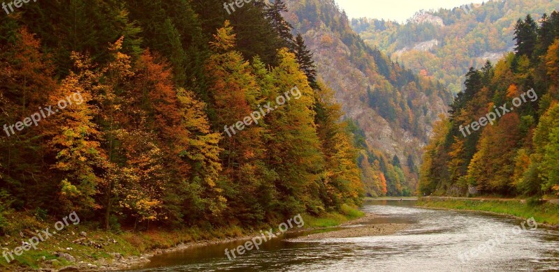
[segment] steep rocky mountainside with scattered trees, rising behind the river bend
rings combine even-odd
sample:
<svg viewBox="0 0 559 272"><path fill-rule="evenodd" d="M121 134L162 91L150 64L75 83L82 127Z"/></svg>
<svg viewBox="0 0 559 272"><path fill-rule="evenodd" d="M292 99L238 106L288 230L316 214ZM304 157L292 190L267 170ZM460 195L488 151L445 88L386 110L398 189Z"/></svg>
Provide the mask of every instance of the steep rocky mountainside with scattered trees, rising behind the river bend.
<svg viewBox="0 0 559 272"><path fill-rule="evenodd" d="M386 180L389 195L414 192L422 147L451 101L447 89L365 44L335 1L286 3L286 20L314 52L319 78L363 137L365 190L383 195Z"/></svg>

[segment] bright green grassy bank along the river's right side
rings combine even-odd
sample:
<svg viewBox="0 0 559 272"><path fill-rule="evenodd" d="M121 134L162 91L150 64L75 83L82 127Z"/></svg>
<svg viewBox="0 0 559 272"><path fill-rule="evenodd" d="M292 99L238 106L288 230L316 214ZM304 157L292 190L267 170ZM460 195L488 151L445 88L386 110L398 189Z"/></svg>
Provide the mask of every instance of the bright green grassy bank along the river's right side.
<svg viewBox="0 0 559 272"><path fill-rule="evenodd" d="M416 204L426 208L454 209L467 211L487 211L507 214L519 218L535 218L538 223L559 225L559 205L531 204L521 201L492 199L428 199L420 198Z"/></svg>

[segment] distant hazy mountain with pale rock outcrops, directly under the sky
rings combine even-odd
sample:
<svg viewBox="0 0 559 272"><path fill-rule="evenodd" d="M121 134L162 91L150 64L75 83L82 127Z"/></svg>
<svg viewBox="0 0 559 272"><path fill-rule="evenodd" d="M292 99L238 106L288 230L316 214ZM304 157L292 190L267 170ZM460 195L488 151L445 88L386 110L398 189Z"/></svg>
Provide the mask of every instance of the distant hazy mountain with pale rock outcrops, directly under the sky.
<svg viewBox="0 0 559 272"><path fill-rule="evenodd" d="M495 63L513 50L518 18L549 14L558 5L558 0L485 1L421 10L405 24L360 18L351 20L351 27L371 47L458 93L470 67Z"/></svg>

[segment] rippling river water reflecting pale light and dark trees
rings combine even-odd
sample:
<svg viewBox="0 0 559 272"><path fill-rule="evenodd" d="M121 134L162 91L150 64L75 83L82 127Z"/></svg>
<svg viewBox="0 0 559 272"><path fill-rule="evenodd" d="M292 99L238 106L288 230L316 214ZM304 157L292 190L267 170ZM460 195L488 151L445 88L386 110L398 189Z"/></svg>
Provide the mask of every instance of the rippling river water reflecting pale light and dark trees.
<svg viewBox="0 0 559 272"><path fill-rule="evenodd" d="M388 236L305 242L286 238L307 233L289 234L232 261L224 250L241 241L208 245L153 257L131 271L559 271L559 232L532 229L532 222L523 230L524 220L421 209L414 201L368 201L362 210L378 216L363 224L410 227ZM460 259L464 252L470 255Z"/></svg>

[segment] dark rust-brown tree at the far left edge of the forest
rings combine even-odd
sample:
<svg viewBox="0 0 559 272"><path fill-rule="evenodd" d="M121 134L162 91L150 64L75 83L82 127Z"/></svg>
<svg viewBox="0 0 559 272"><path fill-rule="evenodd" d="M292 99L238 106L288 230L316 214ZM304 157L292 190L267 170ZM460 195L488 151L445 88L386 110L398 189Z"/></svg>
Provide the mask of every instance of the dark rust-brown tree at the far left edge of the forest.
<svg viewBox="0 0 559 272"><path fill-rule="evenodd" d="M14 35L10 43L0 45L0 176L3 186L16 199L14 205L22 209L55 202L41 193L55 193L57 188L52 183L40 182L51 180L52 173L48 171L42 137L47 128L39 112L48 107L49 96L57 84L55 65L41 49L41 40L26 28L17 29ZM30 119L29 116L38 119L38 123L18 130L15 125Z"/></svg>

